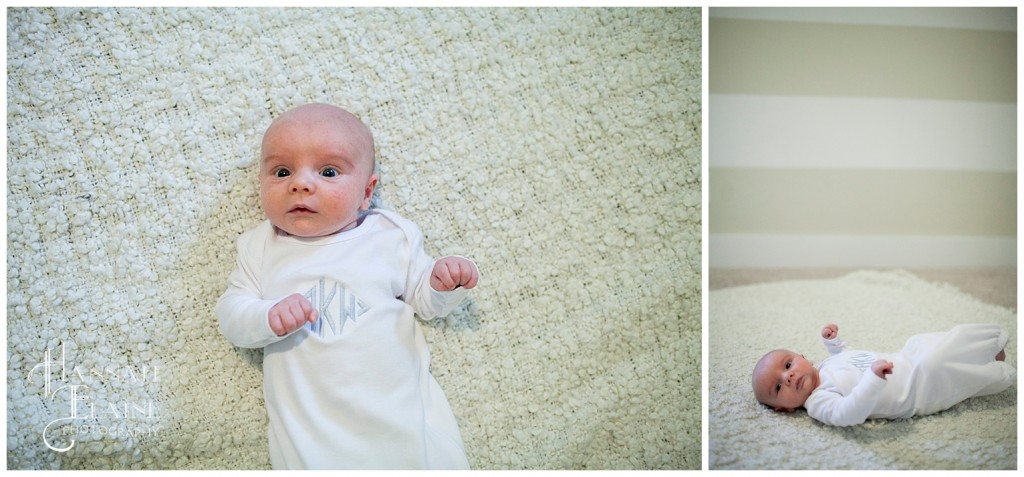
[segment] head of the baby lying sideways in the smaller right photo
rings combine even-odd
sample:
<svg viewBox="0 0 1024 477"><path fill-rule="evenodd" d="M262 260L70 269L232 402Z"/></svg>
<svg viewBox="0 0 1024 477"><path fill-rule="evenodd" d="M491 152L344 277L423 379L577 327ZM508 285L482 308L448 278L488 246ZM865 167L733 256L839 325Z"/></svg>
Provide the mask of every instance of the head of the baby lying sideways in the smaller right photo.
<svg viewBox="0 0 1024 477"><path fill-rule="evenodd" d="M803 354L776 349L754 366L754 396L775 410L792 413L804 405L820 384L818 370Z"/></svg>

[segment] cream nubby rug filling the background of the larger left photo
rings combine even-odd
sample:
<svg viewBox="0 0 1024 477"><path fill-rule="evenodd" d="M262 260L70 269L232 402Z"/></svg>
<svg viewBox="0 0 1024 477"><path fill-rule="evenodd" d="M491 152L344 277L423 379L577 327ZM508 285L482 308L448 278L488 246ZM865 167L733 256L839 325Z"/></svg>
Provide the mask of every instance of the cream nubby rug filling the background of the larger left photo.
<svg viewBox="0 0 1024 477"><path fill-rule="evenodd" d="M482 271L423 324L474 468L698 469L700 49L699 8L8 9L9 468L268 467L213 306L325 101Z"/></svg>

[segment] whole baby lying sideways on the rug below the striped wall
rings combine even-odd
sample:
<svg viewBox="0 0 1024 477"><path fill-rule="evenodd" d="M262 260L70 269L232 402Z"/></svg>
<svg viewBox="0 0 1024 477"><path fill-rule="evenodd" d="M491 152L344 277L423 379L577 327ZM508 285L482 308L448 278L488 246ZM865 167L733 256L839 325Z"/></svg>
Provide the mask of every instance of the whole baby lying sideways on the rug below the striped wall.
<svg viewBox="0 0 1024 477"><path fill-rule="evenodd" d="M814 367L802 354L771 351L754 367L754 395L779 411L805 407L833 426L934 414L1016 382L1017 371L1004 362L1008 337L993 324L959 324L882 354L847 349L839 327L827 324L821 338L830 357Z"/></svg>

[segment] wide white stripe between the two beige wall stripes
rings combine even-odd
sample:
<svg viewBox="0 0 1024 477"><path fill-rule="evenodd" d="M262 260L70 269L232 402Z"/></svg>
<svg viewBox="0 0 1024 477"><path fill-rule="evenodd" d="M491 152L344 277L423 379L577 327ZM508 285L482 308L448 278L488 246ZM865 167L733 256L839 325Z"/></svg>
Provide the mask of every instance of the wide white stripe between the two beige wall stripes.
<svg viewBox="0 0 1024 477"><path fill-rule="evenodd" d="M711 166L1017 170L1017 105L711 94Z"/></svg>

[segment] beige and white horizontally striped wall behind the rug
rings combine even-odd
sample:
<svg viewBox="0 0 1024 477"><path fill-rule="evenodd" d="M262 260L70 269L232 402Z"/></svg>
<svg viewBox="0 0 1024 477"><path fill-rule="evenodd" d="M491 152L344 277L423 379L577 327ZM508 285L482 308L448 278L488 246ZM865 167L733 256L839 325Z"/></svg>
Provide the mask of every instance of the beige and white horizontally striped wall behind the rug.
<svg viewBox="0 0 1024 477"><path fill-rule="evenodd" d="M709 264L1015 266L1014 8L712 8Z"/></svg>

